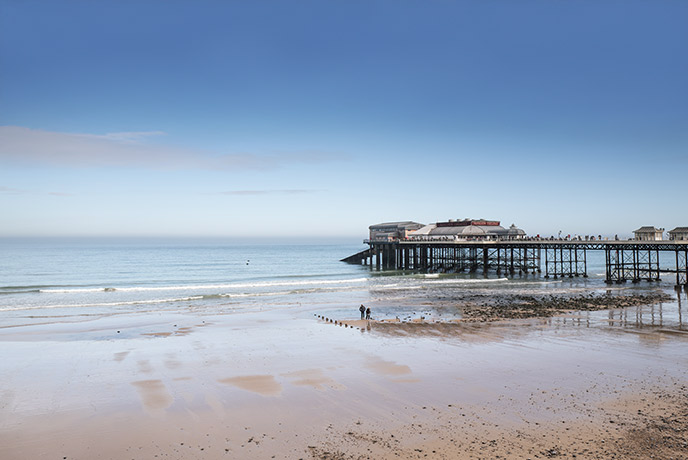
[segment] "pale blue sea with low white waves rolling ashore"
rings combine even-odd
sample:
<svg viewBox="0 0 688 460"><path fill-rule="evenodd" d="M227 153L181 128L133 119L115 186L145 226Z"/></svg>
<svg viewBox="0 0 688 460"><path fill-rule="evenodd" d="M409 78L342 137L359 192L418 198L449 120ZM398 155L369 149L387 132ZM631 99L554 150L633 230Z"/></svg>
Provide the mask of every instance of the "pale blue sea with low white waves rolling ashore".
<svg viewBox="0 0 688 460"><path fill-rule="evenodd" d="M350 241L4 239L0 328L164 312L317 311L355 319L361 304L373 310L374 318L450 320L461 318L462 301L476 297L656 288L646 282L606 285L604 255L595 251L588 253L587 278L557 280L542 274L376 271L340 261L365 247ZM663 285L672 292L669 278Z"/></svg>

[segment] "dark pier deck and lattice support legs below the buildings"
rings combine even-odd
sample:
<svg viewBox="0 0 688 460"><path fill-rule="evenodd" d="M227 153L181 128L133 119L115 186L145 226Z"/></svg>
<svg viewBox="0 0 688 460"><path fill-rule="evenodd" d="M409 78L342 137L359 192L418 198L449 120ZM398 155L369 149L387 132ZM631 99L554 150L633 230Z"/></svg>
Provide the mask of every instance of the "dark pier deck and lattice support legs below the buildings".
<svg viewBox="0 0 688 460"><path fill-rule="evenodd" d="M588 251L604 251L605 281L655 282L660 274L676 275L676 286L688 291L688 241L569 240L366 240L369 248L343 259L377 270L424 273L490 271L515 275L543 273L545 278L587 277ZM668 253L673 267L660 267Z"/></svg>

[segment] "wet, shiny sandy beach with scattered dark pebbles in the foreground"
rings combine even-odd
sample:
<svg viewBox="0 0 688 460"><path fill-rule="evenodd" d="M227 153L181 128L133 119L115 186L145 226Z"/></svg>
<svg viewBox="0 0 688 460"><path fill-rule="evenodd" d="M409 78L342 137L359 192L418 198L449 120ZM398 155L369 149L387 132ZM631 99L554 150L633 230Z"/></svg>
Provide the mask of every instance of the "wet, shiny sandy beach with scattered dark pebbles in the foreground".
<svg viewBox="0 0 688 460"><path fill-rule="evenodd" d="M681 298L488 322L310 306L4 328L0 458L685 458Z"/></svg>

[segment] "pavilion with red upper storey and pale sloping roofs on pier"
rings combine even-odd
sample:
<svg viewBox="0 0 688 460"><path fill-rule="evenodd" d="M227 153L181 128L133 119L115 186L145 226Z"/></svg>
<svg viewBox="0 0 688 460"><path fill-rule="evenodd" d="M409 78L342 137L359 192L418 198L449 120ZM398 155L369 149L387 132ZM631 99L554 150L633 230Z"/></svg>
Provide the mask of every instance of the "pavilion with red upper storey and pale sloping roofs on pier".
<svg viewBox="0 0 688 460"><path fill-rule="evenodd" d="M526 232L511 225L506 229L497 220L463 219L449 220L426 225L409 233L409 238L432 240L466 240L466 239L521 239Z"/></svg>

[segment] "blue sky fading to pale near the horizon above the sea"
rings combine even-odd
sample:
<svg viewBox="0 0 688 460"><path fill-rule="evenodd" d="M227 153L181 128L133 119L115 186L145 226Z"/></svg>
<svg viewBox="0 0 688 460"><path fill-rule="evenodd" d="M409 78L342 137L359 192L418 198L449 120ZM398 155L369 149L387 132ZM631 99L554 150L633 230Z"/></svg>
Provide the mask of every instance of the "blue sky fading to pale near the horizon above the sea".
<svg viewBox="0 0 688 460"><path fill-rule="evenodd" d="M0 237L688 225L688 2L0 0Z"/></svg>

